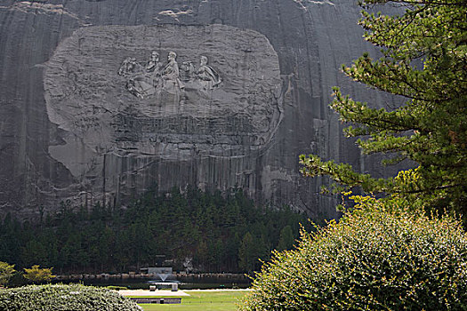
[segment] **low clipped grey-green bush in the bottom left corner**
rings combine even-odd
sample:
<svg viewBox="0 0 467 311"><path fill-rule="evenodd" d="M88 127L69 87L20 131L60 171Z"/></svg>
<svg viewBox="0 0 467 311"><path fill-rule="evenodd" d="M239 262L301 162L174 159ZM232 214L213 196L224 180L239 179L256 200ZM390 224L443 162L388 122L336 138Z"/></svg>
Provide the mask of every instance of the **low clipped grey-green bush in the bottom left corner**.
<svg viewBox="0 0 467 311"><path fill-rule="evenodd" d="M0 310L141 311L141 307L117 291L73 285L29 285L0 291Z"/></svg>

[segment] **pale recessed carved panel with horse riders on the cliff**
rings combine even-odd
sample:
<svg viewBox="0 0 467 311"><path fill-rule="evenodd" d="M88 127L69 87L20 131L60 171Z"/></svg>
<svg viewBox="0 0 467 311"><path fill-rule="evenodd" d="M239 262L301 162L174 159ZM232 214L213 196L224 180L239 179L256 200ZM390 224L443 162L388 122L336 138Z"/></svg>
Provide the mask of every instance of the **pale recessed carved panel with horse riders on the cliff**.
<svg viewBox="0 0 467 311"><path fill-rule="evenodd" d="M49 153L81 184L109 161L127 156L148 161L251 156L268 146L281 121L278 56L268 39L252 30L81 28L46 66L48 116L68 133ZM86 160L69 156L70 148L84 150ZM120 182L122 173L107 172L107 185Z"/></svg>

